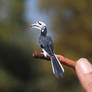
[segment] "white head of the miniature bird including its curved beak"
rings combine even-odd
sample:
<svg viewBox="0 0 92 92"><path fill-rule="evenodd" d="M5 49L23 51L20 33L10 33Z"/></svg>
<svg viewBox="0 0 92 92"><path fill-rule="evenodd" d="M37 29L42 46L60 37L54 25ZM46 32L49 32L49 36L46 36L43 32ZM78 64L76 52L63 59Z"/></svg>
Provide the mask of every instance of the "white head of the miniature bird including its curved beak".
<svg viewBox="0 0 92 92"><path fill-rule="evenodd" d="M37 21L36 23L32 24L30 27L39 29L43 32L46 29L46 24L44 22Z"/></svg>

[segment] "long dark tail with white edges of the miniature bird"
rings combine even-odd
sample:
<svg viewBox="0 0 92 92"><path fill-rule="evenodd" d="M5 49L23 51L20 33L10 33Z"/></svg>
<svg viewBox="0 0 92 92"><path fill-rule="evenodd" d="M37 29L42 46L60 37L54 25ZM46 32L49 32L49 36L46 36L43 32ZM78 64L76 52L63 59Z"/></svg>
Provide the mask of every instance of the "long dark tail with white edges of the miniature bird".
<svg viewBox="0 0 92 92"><path fill-rule="evenodd" d="M64 68L55 55L51 56L51 64L52 64L52 69L53 69L53 73L55 74L55 76L57 78L63 77L64 76Z"/></svg>

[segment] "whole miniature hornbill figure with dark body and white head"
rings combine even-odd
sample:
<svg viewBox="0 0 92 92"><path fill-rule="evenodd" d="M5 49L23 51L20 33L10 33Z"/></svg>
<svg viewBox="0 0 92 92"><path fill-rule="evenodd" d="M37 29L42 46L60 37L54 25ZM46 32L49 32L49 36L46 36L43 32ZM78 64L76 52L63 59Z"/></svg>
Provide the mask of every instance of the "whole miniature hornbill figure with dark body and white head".
<svg viewBox="0 0 92 92"><path fill-rule="evenodd" d="M41 35L39 37L39 43L42 48L43 54L45 57L50 56L52 69L55 76L57 78L63 77L64 69L54 53L53 41L51 37L47 35L46 24L41 21L37 21L36 23L31 25L31 28L36 28L41 31Z"/></svg>

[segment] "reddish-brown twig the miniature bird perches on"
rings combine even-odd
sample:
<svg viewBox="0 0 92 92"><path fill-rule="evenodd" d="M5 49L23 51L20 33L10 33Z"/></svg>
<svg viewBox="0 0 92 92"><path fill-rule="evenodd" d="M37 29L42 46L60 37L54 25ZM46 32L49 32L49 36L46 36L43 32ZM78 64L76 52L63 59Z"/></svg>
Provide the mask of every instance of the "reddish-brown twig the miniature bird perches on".
<svg viewBox="0 0 92 92"><path fill-rule="evenodd" d="M57 56L57 58L59 59L59 61L60 61L62 64L66 65L66 66L68 66L68 67L71 67L71 68L73 68L73 69L75 70L75 64L76 64L75 61L70 60L70 59L68 59L68 58L66 58L66 57L64 57L64 56L62 56L62 55L56 55L56 56ZM50 60L50 57L49 57L49 56L45 57L45 56L42 54L42 51L35 51L35 52L33 53L33 57L34 57L34 58L38 58L38 59Z"/></svg>

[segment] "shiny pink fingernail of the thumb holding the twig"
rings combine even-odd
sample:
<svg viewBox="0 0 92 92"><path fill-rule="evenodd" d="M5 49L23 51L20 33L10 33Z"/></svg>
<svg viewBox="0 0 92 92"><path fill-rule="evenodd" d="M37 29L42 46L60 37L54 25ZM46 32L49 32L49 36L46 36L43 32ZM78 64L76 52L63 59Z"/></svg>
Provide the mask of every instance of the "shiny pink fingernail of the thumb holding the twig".
<svg viewBox="0 0 92 92"><path fill-rule="evenodd" d="M81 73L88 74L92 72L92 65L85 58L79 59L77 61L77 66L80 68Z"/></svg>

